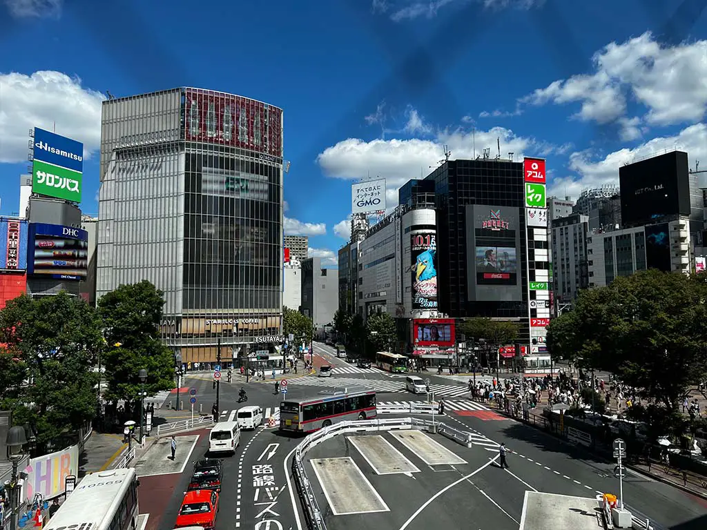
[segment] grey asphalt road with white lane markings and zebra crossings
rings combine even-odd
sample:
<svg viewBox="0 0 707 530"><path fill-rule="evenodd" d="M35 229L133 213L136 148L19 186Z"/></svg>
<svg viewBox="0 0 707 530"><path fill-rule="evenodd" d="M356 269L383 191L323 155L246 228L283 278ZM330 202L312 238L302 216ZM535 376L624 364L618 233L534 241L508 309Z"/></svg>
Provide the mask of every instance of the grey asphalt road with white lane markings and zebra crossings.
<svg viewBox="0 0 707 530"><path fill-rule="evenodd" d="M335 357L334 348L315 343L315 365L322 363L331 364L335 370L334 376L326 380L326 386L346 386L351 381L364 386L392 384L390 391L378 390L379 403L423 399L400 390L399 384L403 382L401 377L377 370L351 371L351 365ZM434 437L439 444L462 459L464 464L428 466L421 460L421 455L425 454L423 450L414 447L411 450L392 435L380 433L387 444L378 439L363 440L358 445L364 447L364 453L366 443L373 443L374 446L375 443L383 444L389 450L390 445L419 471L407 475L378 474L363 458L361 450L356 448L356 440L348 436L334 437L308 454L308 461L322 461L319 464L321 478L312 471L311 464L308 464L308 471L320 496L320 507L325 510L330 530L358 530L363 526L380 530L416 530L440 523L450 528L515 530L518 529L525 490L583 497L593 497L597 492L617 493L617 481L612 477L613 464L593 459L589 454L568 447L543 432L491 413L480 404L473 404L469 395L464 395L462 383L450 382L436 374L423 377L429 377L433 386L450 393L445 395L448 402L445 421L475 433L472 449ZM319 378L290 379L287 397L316 394L321 385L318 382L313 384L312 380L317 382ZM185 384L197 389L198 403L204 403L204 410L209 410L215 401L211 382L203 377L191 377L187 378ZM248 404L257 404L274 416L279 416L278 406L282 394L274 394L271 382L245 384L235 379L232 384L221 384L222 419L230 418L241 406L237 402L240 387L247 389ZM191 466L206 452L206 431L200 434L182 473L141 479L141 512L150 512L151 508L156 512L151 513L147 530L173 528ZM304 524L303 517L298 512L297 493L291 489L293 484L288 477L291 464L288 455L300 440L298 437L280 435L269 428L242 432L238 454L223 459L225 473L217 530L300 529L300 525ZM508 456L508 471L501 471L494 464L489 464L496 457L496 446L501 441L506 442L513 451ZM375 452L373 454L375 458ZM327 471L327 459L335 457L350 458L350 461L346 461L348 474L341 474L340 470ZM372 458L370 451L368 457ZM377 465L380 466L380 462ZM354 467L363 472L370 488L366 486L366 481L361 481L361 474ZM334 499L334 506L329 505L324 490L330 489L331 481L327 477L331 476L338 477L335 483L339 489L346 488L344 497L361 501L359 504L363 509L354 511L364 513L342 514L351 510L350 501L349 505L341 501L337 504ZM448 488L452 483L456 484ZM443 493L440 493L441 490L444 490ZM372 491L378 493L380 499ZM368 495L365 495L366 492ZM665 528L707 528L707 501L643 476L629 474L624 483L624 499L629 507ZM380 502L387 510L372 511L384 510ZM469 522L473 522L472 526L469 526Z"/></svg>

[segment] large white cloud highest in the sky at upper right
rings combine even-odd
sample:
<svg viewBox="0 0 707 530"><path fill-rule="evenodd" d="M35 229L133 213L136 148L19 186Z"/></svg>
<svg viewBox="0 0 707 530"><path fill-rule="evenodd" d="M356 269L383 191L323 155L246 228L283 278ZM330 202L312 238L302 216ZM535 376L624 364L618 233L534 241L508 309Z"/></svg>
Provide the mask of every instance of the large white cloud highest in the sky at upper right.
<svg viewBox="0 0 707 530"><path fill-rule="evenodd" d="M663 46L650 32L612 42L592 57L595 72L554 81L521 102L544 105L580 102L577 117L598 123L626 114L626 95L645 106L651 125L695 123L707 111L707 40ZM636 129L622 134L636 136Z"/></svg>

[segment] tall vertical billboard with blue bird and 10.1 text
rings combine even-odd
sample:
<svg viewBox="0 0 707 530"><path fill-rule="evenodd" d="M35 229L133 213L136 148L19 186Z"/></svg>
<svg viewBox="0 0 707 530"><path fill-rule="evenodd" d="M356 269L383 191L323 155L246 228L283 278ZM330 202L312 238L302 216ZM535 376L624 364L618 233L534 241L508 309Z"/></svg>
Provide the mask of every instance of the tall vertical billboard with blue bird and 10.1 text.
<svg viewBox="0 0 707 530"><path fill-rule="evenodd" d="M412 309L437 307L437 237L433 233L410 237Z"/></svg>

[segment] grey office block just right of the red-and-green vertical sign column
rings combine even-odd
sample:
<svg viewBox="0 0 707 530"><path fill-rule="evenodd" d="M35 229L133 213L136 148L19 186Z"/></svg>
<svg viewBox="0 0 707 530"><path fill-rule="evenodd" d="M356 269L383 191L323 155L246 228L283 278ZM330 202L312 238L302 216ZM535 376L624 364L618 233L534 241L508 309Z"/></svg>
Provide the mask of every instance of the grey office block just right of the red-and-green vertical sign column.
<svg viewBox="0 0 707 530"><path fill-rule="evenodd" d="M589 286L587 236L589 218L581 213L552 221L554 293L558 303L571 303Z"/></svg>

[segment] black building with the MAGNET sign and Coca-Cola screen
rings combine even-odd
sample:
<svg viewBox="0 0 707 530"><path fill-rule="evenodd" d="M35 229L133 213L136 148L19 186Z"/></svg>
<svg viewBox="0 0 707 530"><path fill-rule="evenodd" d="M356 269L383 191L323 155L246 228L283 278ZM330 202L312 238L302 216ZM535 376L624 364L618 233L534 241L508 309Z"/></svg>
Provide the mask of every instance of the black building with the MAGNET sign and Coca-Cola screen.
<svg viewBox="0 0 707 530"><path fill-rule="evenodd" d="M522 162L449 160L426 179L435 182L440 312L521 319L527 337Z"/></svg>

